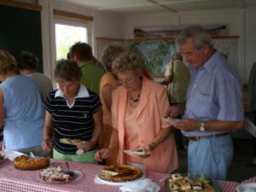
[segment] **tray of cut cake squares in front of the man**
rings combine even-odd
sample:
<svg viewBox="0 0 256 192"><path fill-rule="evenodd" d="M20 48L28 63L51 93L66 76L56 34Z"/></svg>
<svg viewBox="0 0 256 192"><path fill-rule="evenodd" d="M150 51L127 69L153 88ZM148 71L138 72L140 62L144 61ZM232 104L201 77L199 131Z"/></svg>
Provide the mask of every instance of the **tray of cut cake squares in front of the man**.
<svg viewBox="0 0 256 192"><path fill-rule="evenodd" d="M171 174L167 180L167 189L171 192L215 192L212 180L183 173Z"/></svg>

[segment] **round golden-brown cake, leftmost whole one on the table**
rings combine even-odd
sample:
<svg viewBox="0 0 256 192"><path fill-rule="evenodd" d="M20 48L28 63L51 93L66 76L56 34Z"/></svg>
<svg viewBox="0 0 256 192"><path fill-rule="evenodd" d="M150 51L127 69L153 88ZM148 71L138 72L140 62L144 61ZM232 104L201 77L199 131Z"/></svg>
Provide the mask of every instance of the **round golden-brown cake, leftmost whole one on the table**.
<svg viewBox="0 0 256 192"><path fill-rule="evenodd" d="M26 155L20 155L15 157L15 168L20 170L38 170L49 166L49 158L47 157L35 157L28 158Z"/></svg>

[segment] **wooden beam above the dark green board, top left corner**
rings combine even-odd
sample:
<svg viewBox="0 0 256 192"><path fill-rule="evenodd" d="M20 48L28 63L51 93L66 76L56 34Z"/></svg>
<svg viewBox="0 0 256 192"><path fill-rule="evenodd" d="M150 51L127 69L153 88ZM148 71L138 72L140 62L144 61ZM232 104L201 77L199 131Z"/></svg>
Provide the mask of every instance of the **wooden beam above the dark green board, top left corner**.
<svg viewBox="0 0 256 192"><path fill-rule="evenodd" d="M1 0L0 4L15 7L15 8L21 8L21 9L30 9L30 10L37 10L37 11L42 10L42 6L39 5L38 3L25 3L25 2L17 2L14 0Z"/></svg>

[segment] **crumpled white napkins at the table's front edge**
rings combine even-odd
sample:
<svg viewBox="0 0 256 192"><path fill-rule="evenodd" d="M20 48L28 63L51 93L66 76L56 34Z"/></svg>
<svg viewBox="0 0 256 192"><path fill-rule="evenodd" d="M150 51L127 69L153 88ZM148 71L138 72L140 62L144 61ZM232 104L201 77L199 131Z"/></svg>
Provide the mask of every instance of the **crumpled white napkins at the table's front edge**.
<svg viewBox="0 0 256 192"><path fill-rule="evenodd" d="M158 192L160 186L149 178L137 182L127 182L119 187L123 192Z"/></svg>

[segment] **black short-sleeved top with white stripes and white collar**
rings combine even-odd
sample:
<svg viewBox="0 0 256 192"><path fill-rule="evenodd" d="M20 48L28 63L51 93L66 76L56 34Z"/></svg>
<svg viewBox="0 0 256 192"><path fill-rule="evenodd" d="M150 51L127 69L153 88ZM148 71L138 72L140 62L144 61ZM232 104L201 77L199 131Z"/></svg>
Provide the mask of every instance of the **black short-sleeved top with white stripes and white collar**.
<svg viewBox="0 0 256 192"><path fill-rule="evenodd" d="M80 84L79 94L71 106L61 90L53 90L46 97L44 108L52 114L54 148L61 154L76 154L76 146L60 143L60 139L67 137L89 142L95 127L92 115L102 108L102 103L95 92Z"/></svg>

